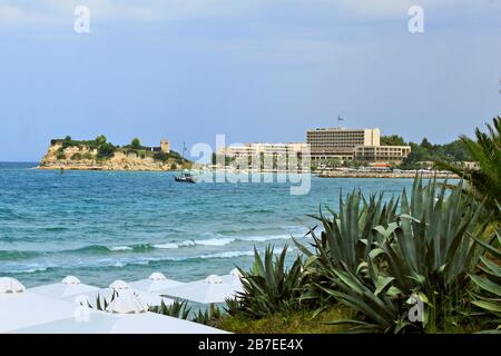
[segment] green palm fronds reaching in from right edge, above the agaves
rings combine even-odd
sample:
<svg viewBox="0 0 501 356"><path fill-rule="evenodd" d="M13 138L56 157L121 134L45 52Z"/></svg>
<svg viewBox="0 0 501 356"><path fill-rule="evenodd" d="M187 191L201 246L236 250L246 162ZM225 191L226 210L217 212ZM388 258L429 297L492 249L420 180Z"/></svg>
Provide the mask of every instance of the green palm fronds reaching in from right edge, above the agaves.
<svg viewBox="0 0 501 356"><path fill-rule="evenodd" d="M485 208L497 220L501 220L498 208L501 204L501 117L494 118L493 125L487 123L487 127L489 132L477 128L477 140L460 136L480 169L461 168L443 161L435 162L435 167L450 170L466 180L468 191L478 200L484 201Z"/></svg>

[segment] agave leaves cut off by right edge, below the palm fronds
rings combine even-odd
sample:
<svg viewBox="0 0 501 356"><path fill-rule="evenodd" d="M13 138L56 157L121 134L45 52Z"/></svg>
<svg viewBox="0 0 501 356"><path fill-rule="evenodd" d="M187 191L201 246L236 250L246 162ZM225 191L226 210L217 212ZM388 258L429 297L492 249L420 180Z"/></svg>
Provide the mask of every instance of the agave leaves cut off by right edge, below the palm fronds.
<svg viewBox="0 0 501 356"><path fill-rule="evenodd" d="M494 329L489 333L501 333L501 233L495 231L493 238L485 243L477 243L485 249L481 259L481 275L470 274L470 278L479 288L473 293L475 306L489 317L488 324Z"/></svg>

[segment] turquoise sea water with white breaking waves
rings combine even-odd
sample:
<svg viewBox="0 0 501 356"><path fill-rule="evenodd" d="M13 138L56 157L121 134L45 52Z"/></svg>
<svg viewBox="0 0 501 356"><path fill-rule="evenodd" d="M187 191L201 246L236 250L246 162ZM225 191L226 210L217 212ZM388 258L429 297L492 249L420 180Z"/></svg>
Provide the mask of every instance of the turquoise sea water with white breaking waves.
<svg viewBox="0 0 501 356"><path fill-rule="evenodd" d="M249 267L253 248L281 248L337 206L340 191L399 194L409 179L312 177L289 184L175 182L173 172L42 171L0 164L0 276L27 286L76 275L107 286L163 271L179 280Z"/></svg>

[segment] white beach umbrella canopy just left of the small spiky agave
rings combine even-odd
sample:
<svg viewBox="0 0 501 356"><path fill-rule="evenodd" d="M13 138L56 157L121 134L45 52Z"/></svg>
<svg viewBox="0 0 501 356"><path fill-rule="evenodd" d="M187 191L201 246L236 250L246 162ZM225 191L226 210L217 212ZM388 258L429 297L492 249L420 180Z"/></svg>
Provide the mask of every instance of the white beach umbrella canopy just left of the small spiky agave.
<svg viewBox="0 0 501 356"><path fill-rule="evenodd" d="M234 297L237 288L216 275L165 290L165 295L202 304L223 303Z"/></svg>

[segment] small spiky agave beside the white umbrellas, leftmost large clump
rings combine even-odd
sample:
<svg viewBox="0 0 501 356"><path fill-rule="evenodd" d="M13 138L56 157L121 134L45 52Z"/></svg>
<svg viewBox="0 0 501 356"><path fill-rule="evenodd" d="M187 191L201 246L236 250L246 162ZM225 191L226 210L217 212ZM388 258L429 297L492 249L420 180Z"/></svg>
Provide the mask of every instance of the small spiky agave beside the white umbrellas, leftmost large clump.
<svg viewBox="0 0 501 356"><path fill-rule="evenodd" d="M268 246L264 260L254 248L255 261L250 271L239 269L244 291L237 295L239 308L252 317L263 317L276 312L296 309L302 293L301 257L296 257L291 268L285 266L287 246L275 257ZM234 306L233 306L234 307Z"/></svg>

